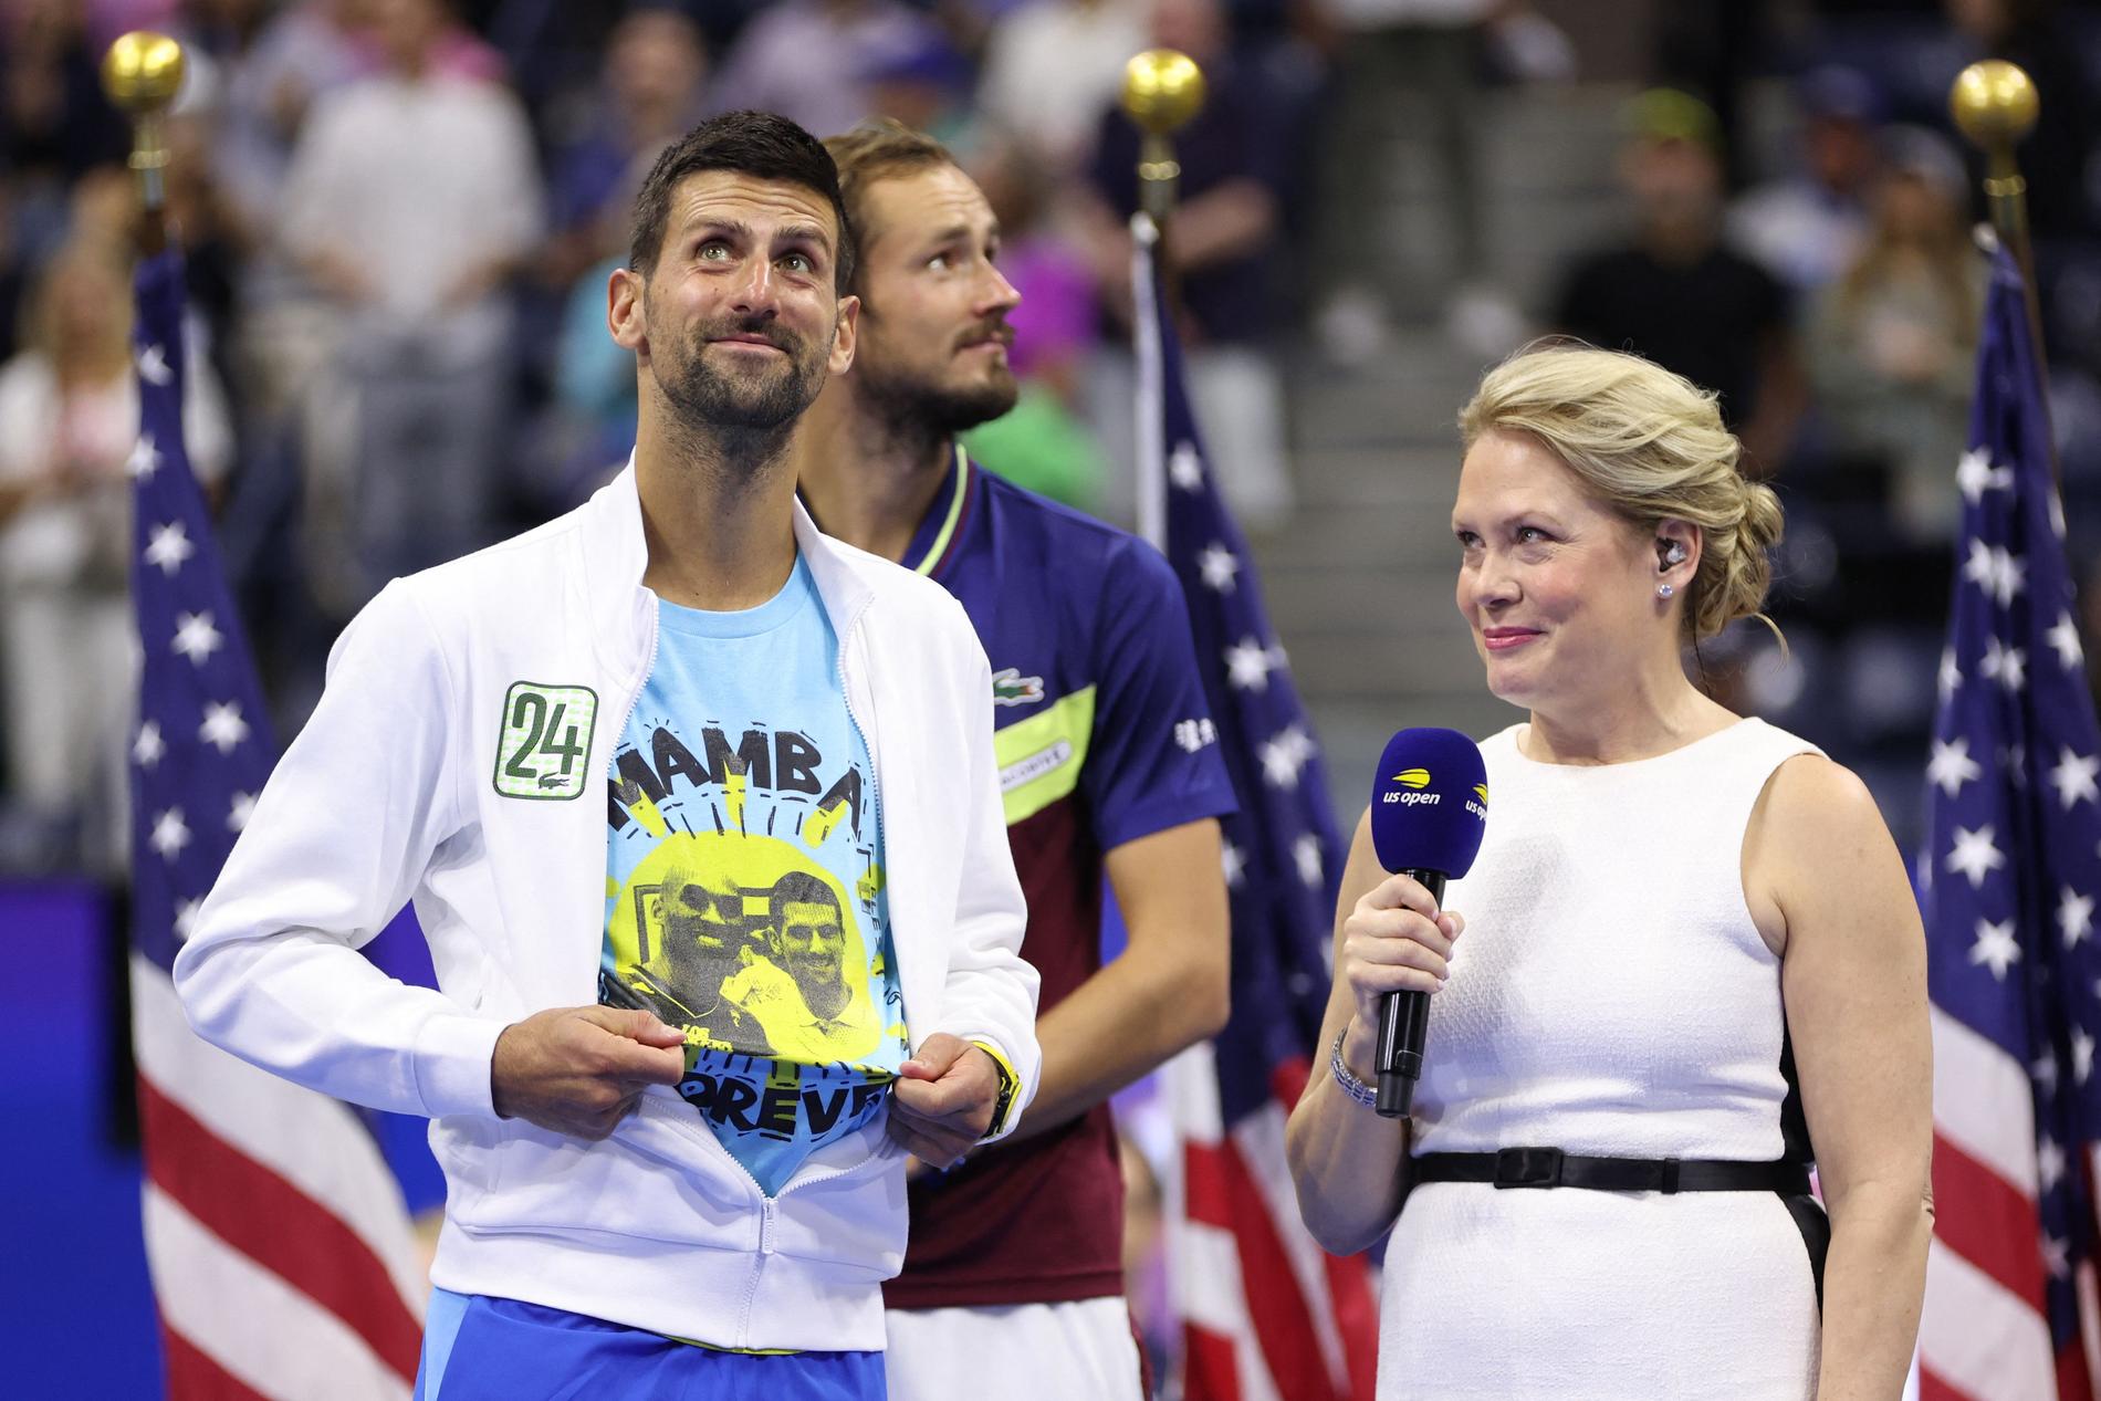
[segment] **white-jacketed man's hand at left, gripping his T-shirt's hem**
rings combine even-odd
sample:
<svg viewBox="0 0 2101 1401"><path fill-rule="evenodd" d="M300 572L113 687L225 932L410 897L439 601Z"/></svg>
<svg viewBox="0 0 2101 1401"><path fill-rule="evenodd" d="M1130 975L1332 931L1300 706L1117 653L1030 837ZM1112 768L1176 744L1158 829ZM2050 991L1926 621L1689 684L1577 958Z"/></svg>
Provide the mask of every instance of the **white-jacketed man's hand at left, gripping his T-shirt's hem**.
<svg viewBox="0 0 2101 1401"><path fill-rule="evenodd" d="M496 1113L557 1134L603 1138L653 1084L685 1078L685 1033L653 1015L557 1006L496 1038Z"/></svg>

